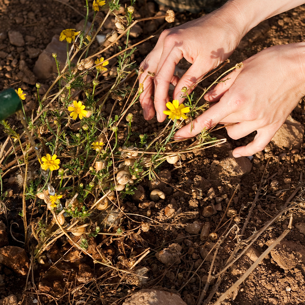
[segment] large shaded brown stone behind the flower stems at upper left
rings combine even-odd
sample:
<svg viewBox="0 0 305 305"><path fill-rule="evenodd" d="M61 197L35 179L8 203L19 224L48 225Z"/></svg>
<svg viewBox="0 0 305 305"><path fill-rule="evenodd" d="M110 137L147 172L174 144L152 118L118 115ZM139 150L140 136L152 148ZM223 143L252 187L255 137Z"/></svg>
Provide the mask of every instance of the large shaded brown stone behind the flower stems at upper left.
<svg viewBox="0 0 305 305"><path fill-rule="evenodd" d="M52 53L57 54L57 60L59 61L60 68L63 69L67 60L67 45L65 41L59 41L59 35L52 37L52 41L41 52L36 60L33 72L38 79L47 79L51 77L51 74L58 73ZM72 62L77 63L76 58L74 58Z"/></svg>

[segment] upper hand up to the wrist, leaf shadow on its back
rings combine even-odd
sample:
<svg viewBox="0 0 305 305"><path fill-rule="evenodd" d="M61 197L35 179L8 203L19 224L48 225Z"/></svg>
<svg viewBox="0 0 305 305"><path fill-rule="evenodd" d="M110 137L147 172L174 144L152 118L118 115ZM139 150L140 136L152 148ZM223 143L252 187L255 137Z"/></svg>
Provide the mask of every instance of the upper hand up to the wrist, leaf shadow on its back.
<svg viewBox="0 0 305 305"><path fill-rule="evenodd" d="M143 83L147 71L155 73L154 78L147 77L144 91L140 95L145 120L151 120L156 109L157 120L163 122L166 118L163 110L167 110L165 104L170 100L169 85L175 86L173 99L178 99L181 103L181 88L190 88L208 71L224 62L244 34L239 21L234 20L233 13L225 7L181 26L164 30L155 48L140 65L145 72L140 75L139 83ZM174 70L183 57L192 66L179 79L174 76ZM154 102L151 98L153 93Z"/></svg>

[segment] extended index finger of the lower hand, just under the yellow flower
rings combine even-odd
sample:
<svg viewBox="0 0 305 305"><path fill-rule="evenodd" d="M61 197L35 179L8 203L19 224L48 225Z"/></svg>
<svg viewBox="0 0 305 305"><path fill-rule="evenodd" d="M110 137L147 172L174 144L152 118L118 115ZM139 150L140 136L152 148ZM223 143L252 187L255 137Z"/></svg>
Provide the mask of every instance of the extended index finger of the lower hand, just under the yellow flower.
<svg viewBox="0 0 305 305"><path fill-rule="evenodd" d="M207 109L203 114L197 117L192 123L182 127L175 133L175 140L189 138L197 135L205 127L206 129L218 124L221 120L234 112L229 103L219 101L212 108ZM191 130L192 129L192 130Z"/></svg>

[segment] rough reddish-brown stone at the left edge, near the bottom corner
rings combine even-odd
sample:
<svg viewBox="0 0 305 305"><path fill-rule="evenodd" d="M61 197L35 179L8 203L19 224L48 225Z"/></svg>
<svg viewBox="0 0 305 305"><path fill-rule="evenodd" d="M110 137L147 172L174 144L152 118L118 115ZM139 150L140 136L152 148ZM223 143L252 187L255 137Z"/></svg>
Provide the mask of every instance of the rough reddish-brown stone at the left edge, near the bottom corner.
<svg viewBox="0 0 305 305"><path fill-rule="evenodd" d="M30 267L30 260L25 250L17 246L1 248L0 263L13 269L13 271L20 275L27 275Z"/></svg>

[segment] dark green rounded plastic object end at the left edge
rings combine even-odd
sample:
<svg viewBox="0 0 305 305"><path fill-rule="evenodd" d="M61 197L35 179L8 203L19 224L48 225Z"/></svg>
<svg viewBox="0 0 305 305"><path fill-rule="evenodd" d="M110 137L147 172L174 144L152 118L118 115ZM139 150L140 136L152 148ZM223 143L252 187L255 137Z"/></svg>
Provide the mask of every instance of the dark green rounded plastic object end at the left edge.
<svg viewBox="0 0 305 305"><path fill-rule="evenodd" d="M13 88L0 92L0 120L6 119L21 108L21 100Z"/></svg>

